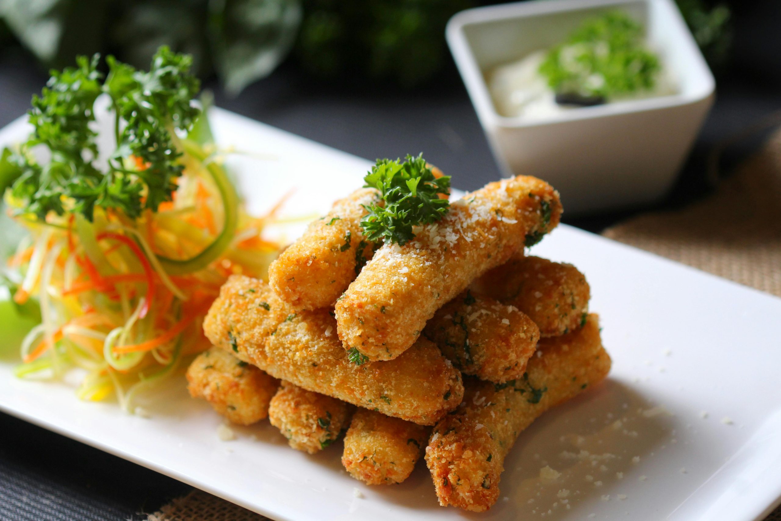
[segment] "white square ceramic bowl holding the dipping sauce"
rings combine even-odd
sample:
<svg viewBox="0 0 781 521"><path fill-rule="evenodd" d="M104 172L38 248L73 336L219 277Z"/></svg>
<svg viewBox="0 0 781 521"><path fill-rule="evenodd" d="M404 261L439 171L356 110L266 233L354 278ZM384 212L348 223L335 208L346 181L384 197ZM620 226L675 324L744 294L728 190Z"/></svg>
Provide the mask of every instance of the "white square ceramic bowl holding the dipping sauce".
<svg viewBox="0 0 781 521"><path fill-rule="evenodd" d="M544 120L501 116L485 74L550 48L584 19L621 9L675 81L675 95L581 107ZM459 12L448 45L506 176L541 177L568 212L654 202L672 187L710 109L715 81L672 0L537 0Z"/></svg>

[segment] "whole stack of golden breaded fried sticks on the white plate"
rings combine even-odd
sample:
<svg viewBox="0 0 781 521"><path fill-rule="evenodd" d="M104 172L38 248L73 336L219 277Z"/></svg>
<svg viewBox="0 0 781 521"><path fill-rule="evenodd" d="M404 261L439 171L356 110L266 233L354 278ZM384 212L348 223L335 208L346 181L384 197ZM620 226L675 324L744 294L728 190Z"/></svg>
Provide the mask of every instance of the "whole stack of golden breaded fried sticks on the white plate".
<svg viewBox="0 0 781 521"><path fill-rule="evenodd" d="M344 467L367 484L401 483L425 454L440 504L482 512L521 431L610 369L589 286L524 255L562 213L534 177L466 194L403 245L362 234L379 197L336 202L268 284L230 277L189 389L234 423L268 416L310 454L346 432Z"/></svg>

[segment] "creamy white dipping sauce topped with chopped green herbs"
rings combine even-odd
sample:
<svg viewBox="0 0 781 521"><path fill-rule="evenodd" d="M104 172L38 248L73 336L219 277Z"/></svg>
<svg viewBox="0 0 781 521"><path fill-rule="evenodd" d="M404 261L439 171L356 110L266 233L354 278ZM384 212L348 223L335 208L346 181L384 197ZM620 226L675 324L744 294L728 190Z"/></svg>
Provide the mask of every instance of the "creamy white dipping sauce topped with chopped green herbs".
<svg viewBox="0 0 781 521"><path fill-rule="evenodd" d="M677 90L640 24L622 12L584 21L561 45L488 71L486 82L501 116L529 120Z"/></svg>

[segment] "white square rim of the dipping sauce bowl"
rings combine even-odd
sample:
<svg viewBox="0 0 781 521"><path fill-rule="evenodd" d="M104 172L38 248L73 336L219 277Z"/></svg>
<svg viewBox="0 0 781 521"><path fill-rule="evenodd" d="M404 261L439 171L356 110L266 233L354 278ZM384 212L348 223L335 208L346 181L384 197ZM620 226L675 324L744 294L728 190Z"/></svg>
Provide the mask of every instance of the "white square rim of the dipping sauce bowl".
<svg viewBox="0 0 781 521"><path fill-rule="evenodd" d="M466 26L479 25L481 23L493 23L498 20L512 20L533 16L545 16L558 12L585 11L610 5L647 4L659 3L666 8L666 16L674 26L683 47L676 46L674 52L690 53L697 62L697 67L686 70L687 74L696 75L702 82L702 87L689 93L677 93L672 95L654 96L637 100L619 100L592 107L579 107L578 109L560 112L545 118L526 119L523 116L502 116L496 110L493 99L483 77L483 71L477 64L472 48L464 34ZM649 112L659 109L669 109L683 105L692 105L703 102L715 95L715 79L708 63L694 41L689 27L683 20L678 6L673 0L530 0L528 2L515 2L501 5L487 5L465 9L457 12L448 21L445 28L445 36L451 55L458 67L464 81L469 98L477 112L478 119L483 127L503 128L532 128L547 127L559 123L572 121L592 120L631 114L636 112Z"/></svg>

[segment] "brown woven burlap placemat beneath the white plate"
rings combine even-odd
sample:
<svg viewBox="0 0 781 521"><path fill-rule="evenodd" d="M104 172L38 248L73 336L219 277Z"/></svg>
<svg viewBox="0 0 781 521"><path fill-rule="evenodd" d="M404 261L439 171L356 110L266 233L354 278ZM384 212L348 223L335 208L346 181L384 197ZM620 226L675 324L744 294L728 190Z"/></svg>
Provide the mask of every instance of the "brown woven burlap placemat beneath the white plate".
<svg viewBox="0 0 781 521"><path fill-rule="evenodd" d="M704 201L631 219L604 235L781 297L781 132ZM148 517L265 519L203 491L193 491ZM781 521L781 508L765 521Z"/></svg>

